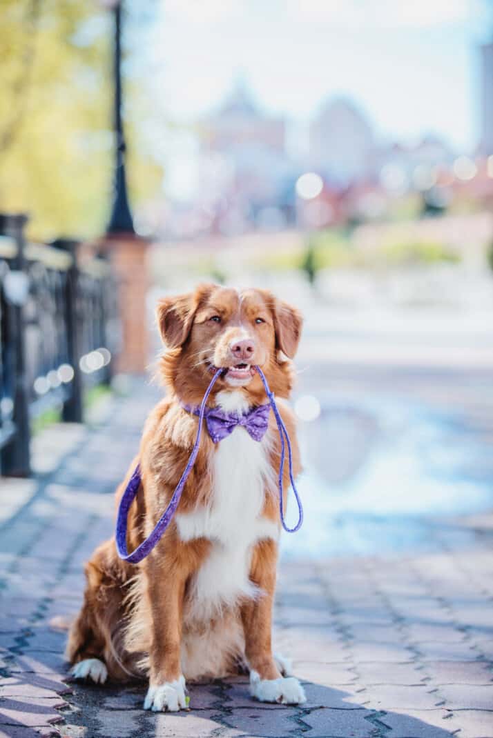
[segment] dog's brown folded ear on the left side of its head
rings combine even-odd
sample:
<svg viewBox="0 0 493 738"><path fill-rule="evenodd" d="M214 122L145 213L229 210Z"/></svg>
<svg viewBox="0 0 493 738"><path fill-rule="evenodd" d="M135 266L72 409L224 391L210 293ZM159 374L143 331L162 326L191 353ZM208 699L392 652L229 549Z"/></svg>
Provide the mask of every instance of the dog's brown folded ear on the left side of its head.
<svg viewBox="0 0 493 738"><path fill-rule="evenodd" d="M163 297L157 303L156 318L163 343L168 348L180 348L186 342L197 308L214 285L199 285L195 292L177 297Z"/></svg>

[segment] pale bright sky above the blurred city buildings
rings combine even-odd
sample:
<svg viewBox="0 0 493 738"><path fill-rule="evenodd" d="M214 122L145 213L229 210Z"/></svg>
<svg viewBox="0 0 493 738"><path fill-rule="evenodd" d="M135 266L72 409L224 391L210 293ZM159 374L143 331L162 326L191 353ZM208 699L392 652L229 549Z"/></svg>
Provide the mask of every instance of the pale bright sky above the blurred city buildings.
<svg viewBox="0 0 493 738"><path fill-rule="evenodd" d="M477 44L492 18L488 0L163 0L149 31L149 94L186 123L241 73L263 107L293 123L344 94L382 137L434 132L470 151Z"/></svg>

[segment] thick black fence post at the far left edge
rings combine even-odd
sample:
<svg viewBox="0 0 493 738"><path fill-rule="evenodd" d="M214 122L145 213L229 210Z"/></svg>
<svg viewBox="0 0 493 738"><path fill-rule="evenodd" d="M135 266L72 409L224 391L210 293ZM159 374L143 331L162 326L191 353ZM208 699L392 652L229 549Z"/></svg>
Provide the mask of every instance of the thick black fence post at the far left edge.
<svg viewBox="0 0 493 738"><path fill-rule="evenodd" d="M0 231L16 239L17 254L12 259L11 268L17 272L25 272L24 258L24 226L27 215L2 215ZM24 306L9 304L9 332L13 341L13 422L16 432L10 444L1 450L1 473L10 477L29 477L30 466L30 418L29 388L26 373L25 317Z"/></svg>

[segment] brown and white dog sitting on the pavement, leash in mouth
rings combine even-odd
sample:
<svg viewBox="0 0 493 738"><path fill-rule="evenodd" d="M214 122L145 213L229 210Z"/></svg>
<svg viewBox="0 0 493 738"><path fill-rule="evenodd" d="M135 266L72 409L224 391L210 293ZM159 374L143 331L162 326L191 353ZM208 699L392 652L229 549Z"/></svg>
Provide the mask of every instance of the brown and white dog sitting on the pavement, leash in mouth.
<svg viewBox="0 0 493 738"><path fill-rule="evenodd" d="M168 393L149 415L140 444L142 483L129 513L129 550L154 528L188 461L198 418L182 405L200 404L213 367L227 371L214 385L211 406L246 413L265 404L254 365L276 399L287 398L302 328L299 312L270 292L214 285L161 300L157 321ZM282 401L279 412L297 474L293 415ZM67 645L75 678L148 677L144 708L176 711L186 707L185 678L223 677L246 667L258 700L305 701L288 662L271 647L279 454L273 413L262 441L239 426L219 444L205 433L177 514L151 554L138 565L123 562L114 538L95 550ZM286 472L285 490L288 484Z"/></svg>

